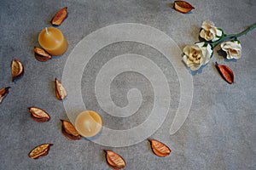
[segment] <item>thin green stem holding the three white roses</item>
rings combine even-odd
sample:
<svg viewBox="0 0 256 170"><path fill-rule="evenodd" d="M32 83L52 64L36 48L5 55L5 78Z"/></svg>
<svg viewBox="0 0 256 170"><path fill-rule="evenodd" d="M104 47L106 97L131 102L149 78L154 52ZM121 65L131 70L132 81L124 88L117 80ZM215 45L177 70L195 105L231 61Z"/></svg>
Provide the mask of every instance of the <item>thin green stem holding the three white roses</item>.
<svg viewBox="0 0 256 170"><path fill-rule="evenodd" d="M248 31L252 31L254 28L256 28L256 23L254 23L252 26L247 27L247 29L245 29L244 31L241 31L238 34L224 35L224 37L221 37L216 42L210 43L210 45L212 46L212 49L213 49L218 45L218 43L224 42L224 41L227 41L227 40L230 40L230 39L234 39L234 38L237 38L237 37L241 37L242 35L246 34Z"/></svg>

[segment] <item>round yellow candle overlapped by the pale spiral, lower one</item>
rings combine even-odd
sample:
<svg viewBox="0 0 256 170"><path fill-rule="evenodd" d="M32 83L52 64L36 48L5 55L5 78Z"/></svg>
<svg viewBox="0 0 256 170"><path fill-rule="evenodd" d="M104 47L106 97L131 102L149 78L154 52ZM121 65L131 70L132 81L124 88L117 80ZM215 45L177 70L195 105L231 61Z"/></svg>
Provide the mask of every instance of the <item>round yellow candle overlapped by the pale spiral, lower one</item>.
<svg viewBox="0 0 256 170"><path fill-rule="evenodd" d="M75 127L85 138L93 137L102 130L102 117L95 111L83 111L77 116Z"/></svg>

